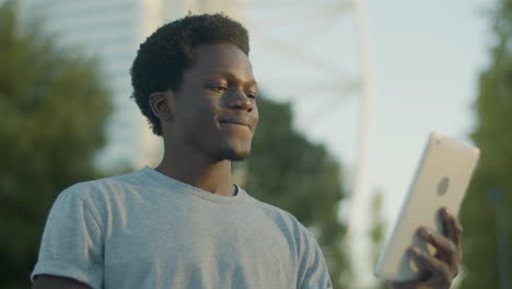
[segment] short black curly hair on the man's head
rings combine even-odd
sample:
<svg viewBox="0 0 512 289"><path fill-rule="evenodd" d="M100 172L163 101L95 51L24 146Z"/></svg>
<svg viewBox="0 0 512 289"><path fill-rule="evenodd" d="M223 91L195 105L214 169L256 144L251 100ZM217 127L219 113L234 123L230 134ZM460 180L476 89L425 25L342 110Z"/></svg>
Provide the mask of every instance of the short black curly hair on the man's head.
<svg viewBox="0 0 512 289"><path fill-rule="evenodd" d="M130 69L133 99L151 129L162 136L160 119L149 96L153 92L178 90L184 71L193 61L193 49L201 44L229 43L249 53L247 30L224 14L188 15L158 28L139 47Z"/></svg>

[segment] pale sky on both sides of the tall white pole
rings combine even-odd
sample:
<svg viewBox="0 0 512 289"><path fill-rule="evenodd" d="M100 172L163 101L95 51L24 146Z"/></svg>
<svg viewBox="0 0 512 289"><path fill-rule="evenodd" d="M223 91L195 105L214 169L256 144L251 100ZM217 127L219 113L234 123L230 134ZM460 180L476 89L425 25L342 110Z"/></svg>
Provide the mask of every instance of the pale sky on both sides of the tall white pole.
<svg viewBox="0 0 512 289"><path fill-rule="evenodd" d="M350 190L361 94L344 88L361 76L353 10L338 2L253 4L248 25L263 89L271 99L290 102L295 128L327 146L342 164ZM376 190L384 195L389 227L429 132L470 142L478 76L489 63L493 41L487 13L496 2L366 1L374 101L362 193L364 205ZM368 206L358 216L364 227Z"/></svg>

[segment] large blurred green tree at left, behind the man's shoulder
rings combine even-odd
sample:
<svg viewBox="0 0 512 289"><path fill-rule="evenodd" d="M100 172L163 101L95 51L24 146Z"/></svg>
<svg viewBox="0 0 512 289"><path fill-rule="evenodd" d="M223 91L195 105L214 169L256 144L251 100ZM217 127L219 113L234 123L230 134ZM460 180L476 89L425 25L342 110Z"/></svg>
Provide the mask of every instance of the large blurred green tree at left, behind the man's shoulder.
<svg viewBox="0 0 512 289"><path fill-rule="evenodd" d="M109 92L97 65L55 44L40 23L0 5L0 288L30 288L49 207L96 177Z"/></svg>

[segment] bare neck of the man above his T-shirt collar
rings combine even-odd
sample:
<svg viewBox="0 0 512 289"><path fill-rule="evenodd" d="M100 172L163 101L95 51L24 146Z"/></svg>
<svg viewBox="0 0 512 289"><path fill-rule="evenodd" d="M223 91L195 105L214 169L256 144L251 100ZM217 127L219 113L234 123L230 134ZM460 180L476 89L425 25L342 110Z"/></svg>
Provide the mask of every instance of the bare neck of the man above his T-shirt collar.
<svg viewBox="0 0 512 289"><path fill-rule="evenodd" d="M212 160L189 148L165 146L162 162L155 170L212 194L232 196L235 189L231 180L231 161Z"/></svg>

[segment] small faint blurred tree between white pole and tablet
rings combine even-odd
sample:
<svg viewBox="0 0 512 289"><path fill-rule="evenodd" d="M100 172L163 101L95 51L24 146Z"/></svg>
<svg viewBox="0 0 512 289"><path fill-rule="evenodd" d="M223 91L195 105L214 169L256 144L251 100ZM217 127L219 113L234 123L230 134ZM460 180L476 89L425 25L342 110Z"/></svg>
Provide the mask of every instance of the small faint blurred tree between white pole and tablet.
<svg viewBox="0 0 512 289"><path fill-rule="evenodd" d="M384 242L384 232L386 230L386 223L383 212L383 194L381 190L377 190L373 194L371 200L371 215L370 215L370 241L372 244L372 266L376 264L379 256L381 254L381 250ZM388 286L382 281L376 280L375 289L385 289Z"/></svg>

